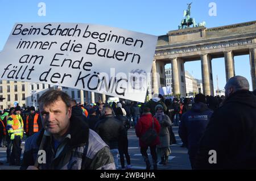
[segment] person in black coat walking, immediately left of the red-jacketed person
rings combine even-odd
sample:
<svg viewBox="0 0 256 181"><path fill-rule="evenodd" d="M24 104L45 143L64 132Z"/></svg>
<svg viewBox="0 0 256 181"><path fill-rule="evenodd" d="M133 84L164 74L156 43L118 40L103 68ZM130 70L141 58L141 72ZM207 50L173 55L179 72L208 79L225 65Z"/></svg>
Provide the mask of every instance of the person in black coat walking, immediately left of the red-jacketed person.
<svg viewBox="0 0 256 181"><path fill-rule="evenodd" d="M123 116L121 107L118 107L117 110L115 111L115 118L121 121L126 131L125 132L126 134L123 136L123 139L120 139L118 142L118 151L120 155L122 170L125 169L125 158L127 162L127 169L131 169L131 161L130 161L130 155L128 153L128 137L127 137L127 131L130 128L130 123L127 117ZM125 157L123 157L123 154L125 154Z"/></svg>

